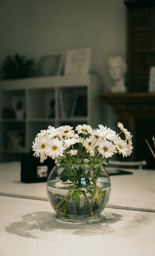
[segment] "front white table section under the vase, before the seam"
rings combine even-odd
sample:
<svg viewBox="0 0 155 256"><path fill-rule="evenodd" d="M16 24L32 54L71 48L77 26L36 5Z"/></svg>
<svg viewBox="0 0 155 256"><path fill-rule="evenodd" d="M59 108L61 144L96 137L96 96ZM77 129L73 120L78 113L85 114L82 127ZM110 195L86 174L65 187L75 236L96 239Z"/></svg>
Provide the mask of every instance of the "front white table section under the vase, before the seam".
<svg viewBox="0 0 155 256"><path fill-rule="evenodd" d="M47 201L0 196L1 256L154 256L155 213L105 208L105 222L55 220Z"/></svg>

